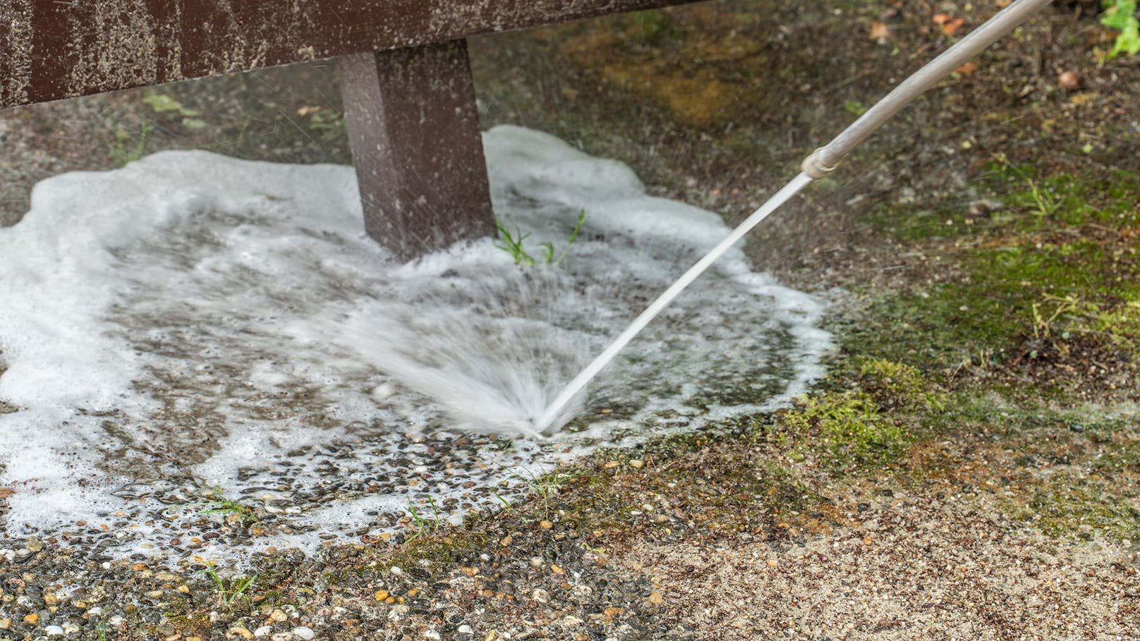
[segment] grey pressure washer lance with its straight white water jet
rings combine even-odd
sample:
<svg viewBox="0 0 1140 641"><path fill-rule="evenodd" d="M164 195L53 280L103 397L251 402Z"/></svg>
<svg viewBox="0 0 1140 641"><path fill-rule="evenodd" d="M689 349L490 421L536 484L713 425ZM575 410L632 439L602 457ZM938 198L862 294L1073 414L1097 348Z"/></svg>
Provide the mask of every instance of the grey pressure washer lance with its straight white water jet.
<svg viewBox="0 0 1140 641"><path fill-rule="evenodd" d="M1031 15L1040 10L1042 7L1048 5L1051 0L1016 0L1009 7L1005 7L997 13L994 17L990 18L985 24L978 29L970 32L969 35L960 40L956 44L944 51L937 58L930 60L922 68L911 74L910 78L904 80L898 87L896 87L890 94L887 94L881 100L876 103L873 107L866 111L858 120L853 122L847 129L845 129L839 136L836 136L830 143L820 147L819 149L812 152L812 155L804 160L800 169L803 170L799 176L793 178L790 182L784 185L782 189L775 193L760 209L752 212L743 222L740 224L735 229L728 234L724 241L717 246L712 248L712 251L707 253L703 258L697 261L689 271L677 279L668 290L665 291L657 300L652 302L645 311L642 311L641 316L634 319L633 323L626 327L626 331L613 340L605 348L602 354L594 359L593 363L586 366L572 381L568 384L559 396L554 398L549 407L543 413L542 416L535 421L535 429L538 432L545 432L554 422L557 420L559 415L565 409L567 405L576 397L578 393L585 389L586 384L589 383L597 375L598 372L613 359L614 356L628 343L634 336L637 335L645 325L649 324L658 314L661 313L673 299L677 298L685 287L690 285L698 276L700 276L716 259L720 258L725 251L728 250L736 241L740 241L756 227L762 220L768 217L769 213L780 208L784 202L790 200L797 193L800 192L813 180L823 178L829 172L836 169L836 164L847 155L848 152L855 148L856 145L866 139L868 136L874 132L874 130L882 127L888 120L891 119L896 113L898 113L903 107L909 105L914 98L918 98L927 89L934 87L939 80L950 75L951 72L962 66L967 60L979 54L986 47L993 44L997 39L1013 31L1018 25L1024 23Z"/></svg>

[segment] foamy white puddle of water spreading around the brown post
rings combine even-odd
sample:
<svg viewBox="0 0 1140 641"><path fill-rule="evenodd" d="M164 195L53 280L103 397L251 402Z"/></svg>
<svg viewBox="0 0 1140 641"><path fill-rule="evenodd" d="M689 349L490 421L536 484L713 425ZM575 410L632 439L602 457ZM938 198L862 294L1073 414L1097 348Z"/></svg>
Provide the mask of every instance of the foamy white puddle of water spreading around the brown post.
<svg viewBox="0 0 1140 641"><path fill-rule="evenodd" d="M512 472L774 407L821 373L821 302L738 248L579 417L526 433L728 229L549 136L502 127L484 146L496 212L532 254L586 211L557 267L490 240L393 263L351 168L166 152L40 184L0 229L0 399L21 408L0 415L0 536L184 559L367 541L429 497L494 509L524 490ZM219 495L261 521L205 513Z"/></svg>

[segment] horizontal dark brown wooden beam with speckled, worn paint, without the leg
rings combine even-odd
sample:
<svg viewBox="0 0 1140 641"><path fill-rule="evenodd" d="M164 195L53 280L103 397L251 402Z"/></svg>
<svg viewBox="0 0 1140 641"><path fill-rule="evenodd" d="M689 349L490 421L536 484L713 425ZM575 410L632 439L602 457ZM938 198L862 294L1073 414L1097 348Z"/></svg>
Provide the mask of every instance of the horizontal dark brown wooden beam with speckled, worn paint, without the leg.
<svg viewBox="0 0 1140 641"><path fill-rule="evenodd" d="M691 0L0 0L0 107Z"/></svg>

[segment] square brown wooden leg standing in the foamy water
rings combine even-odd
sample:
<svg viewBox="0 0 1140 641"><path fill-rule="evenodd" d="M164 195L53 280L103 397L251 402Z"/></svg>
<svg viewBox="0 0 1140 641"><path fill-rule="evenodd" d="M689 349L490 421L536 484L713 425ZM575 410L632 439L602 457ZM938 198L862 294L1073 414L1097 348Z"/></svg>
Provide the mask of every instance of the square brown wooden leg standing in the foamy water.
<svg viewBox="0 0 1140 641"><path fill-rule="evenodd" d="M401 261L495 233L463 40L341 56L365 230Z"/></svg>

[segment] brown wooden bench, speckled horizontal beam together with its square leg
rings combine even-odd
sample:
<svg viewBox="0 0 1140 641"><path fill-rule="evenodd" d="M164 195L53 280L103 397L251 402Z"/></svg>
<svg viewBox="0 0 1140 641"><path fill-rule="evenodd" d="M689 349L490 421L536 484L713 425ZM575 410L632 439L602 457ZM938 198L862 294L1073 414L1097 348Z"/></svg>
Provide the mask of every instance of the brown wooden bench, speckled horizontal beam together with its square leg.
<svg viewBox="0 0 1140 641"><path fill-rule="evenodd" d="M0 108L336 58L365 230L492 235L467 35L691 0L0 0Z"/></svg>

